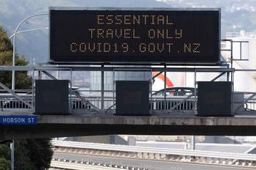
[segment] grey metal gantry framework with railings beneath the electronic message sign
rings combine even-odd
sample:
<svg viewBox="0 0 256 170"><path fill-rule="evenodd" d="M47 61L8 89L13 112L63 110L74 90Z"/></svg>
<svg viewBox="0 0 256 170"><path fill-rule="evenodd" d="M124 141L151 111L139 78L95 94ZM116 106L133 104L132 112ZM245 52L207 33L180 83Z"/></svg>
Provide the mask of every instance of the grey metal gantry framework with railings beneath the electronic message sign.
<svg viewBox="0 0 256 170"><path fill-rule="evenodd" d="M46 14L42 14L46 15ZM216 81L218 78L226 75L226 81L232 82L232 92L234 93L234 73L244 71L255 71L255 70L235 70L233 68L233 51L232 51L232 40L223 40L223 42L230 42L230 49L223 49L230 53L230 59L222 61L218 65L179 65L179 64L138 64L136 67L132 65L124 64L40 64L39 66L1 66L0 71L28 71L32 76L32 89L8 89L7 86L1 84L2 92L0 93L0 109L1 111L29 111L35 112L35 79L42 79L45 75L47 78L57 80L51 72L67 72L70 76L70 86L74 85L73 77L74 72L79 71L95 71L101 73L101 89L99 90L88 90L86 95L79 95L78 92L85 92L85 90L71 89L69 93L69 106L71 112L84 112L96 111L96 112L107 112L112 110L114 113L115 109L115 73L118 72L158 72L152 78L149 79L151 83L149 98L151 103L150 111L155 114L161 113L172 113L172 112L186 112L193 111L196 114L196 86L197 77L199 73L218 73L215 78L210 81ZM238 42L238 41L235 41ZM238 42L243 43L243 42ZM247 42L246 42L247 43ZM240 45L241 46L241 45ZM222 57L223 58L223 57ZM240 57L241 58L241 57ZM104 89L104 73L113 73L113 89ZM194 74L194 94L184 97L169 97L166 96L166 73L168 72L188 72ZM164 95L153 96L152 95L152 81L157 78L158 75L164 73ZM36 76L35 76L36 75ZM230 76L231 75L231 76ZM0 82L1 83L1 82ZM76 93L77 91L77 93ZM30 92L30 93L29 93ZM249 96L250 94L250 96ZM250 111L255 109L255 93L246 92L243 93L244 100L241 103L236 103L235 108L232 109L235 112L241 112L244 109L243 106L249 108ZM79 100L76 100L79 98ZM74 105L72 103L75 103ZM232 101L234 103L234 101ZM163 104L163 105L162 105ZM238 105L239 104L239 105ZM86 107L85 107L86 106Z"/></svg>

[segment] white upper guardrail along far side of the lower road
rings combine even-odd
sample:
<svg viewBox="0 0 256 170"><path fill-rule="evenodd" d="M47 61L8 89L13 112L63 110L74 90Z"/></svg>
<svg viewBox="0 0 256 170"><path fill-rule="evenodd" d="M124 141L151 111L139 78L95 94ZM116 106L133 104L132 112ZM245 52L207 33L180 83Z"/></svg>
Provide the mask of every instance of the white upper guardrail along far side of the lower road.
<svg viewBox="0 0 256 170"><path fill-rule="evenodd" d="M163 155L182 155L191 157L203 157L203 158L222 158L229 160L250 160L256 161L256 155L253 154L241 154L241 153L227 153L227 152L209 152L202 150L186 150L186 149L166 149L166 148L154 148L154 147L134 147L125 145L113 145L113 144L93 144L74 141L52 141L54 147L71 147L78 149L98 149L105 151L118 151L118 152L141 152Z"/></svg>

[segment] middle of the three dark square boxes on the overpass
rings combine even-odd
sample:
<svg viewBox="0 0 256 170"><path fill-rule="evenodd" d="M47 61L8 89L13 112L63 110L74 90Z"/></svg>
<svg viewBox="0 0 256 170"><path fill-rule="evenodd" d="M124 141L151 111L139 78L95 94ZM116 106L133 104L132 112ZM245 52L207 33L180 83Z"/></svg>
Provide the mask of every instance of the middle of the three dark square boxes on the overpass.
<svg viewBox="0 0 256 170"><path fill-rule="evenodd" d="M149 114L149 81L116 81L116 114Z"/></svg>

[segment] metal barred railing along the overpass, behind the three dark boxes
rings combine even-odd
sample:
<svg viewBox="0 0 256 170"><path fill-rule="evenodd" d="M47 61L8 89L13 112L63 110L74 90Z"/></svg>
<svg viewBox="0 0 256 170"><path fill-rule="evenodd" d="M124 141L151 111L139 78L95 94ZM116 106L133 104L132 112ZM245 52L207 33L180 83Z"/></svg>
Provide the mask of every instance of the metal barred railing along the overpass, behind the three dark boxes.
<svg viewBox="0 0 256 170"><path fill-rule="evenodd" d="M77 91L77 90L76 90ZM78 91L79 92L79 91ZM109 93L109 92L108 92ZM239 93L239 92L236 92ZM240 92L243 95L241 100L234 101L234 111L255 111L256 113L256 93L254 92ZM32 95L18 94L24 101L35 106L35 97ZM187 96L166 96L166 109L165 99L163 96L152 96L149 97L150 109L152 111L163 111L166 112L185 112L185 111L196 111L196 103L194 97L186 99ZM72 95L72 100L69 100L69 106L71 111L82 112L82 111L95 111L95 108L101 108L102 97L100 94L88 94L82 95L81 98ZM113 106L113 95L104 95L104 109ZM115 99L114 99L115 101ZM70 103L71 102L71 103ZM180 104L179 104L180 103ZM239 108L239 109L238 109ZM113 107L115 109L115 106ZM13 97L11 94L0 94L0 111L34 111L34 108L26 105L21 100Z"/></svg>

